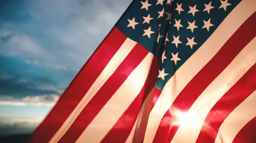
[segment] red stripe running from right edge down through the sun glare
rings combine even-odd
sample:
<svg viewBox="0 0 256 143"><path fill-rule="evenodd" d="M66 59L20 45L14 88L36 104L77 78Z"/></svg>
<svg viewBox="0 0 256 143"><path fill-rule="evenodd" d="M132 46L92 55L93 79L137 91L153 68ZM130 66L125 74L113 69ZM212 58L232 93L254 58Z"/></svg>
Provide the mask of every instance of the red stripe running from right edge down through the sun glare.
<svg viewBox="0 0 256 143"><path fill-rule="evenodd" d="M199 73L181 91L174 103L163 116L153 142L170 142L179 125L170 124L177 121L170 112L180 110L187 112L206 87L229 65L237 54L255 37L256 14L252 14L239 29L228 39ZM196 87L196 88L195 88Z"/></svg>

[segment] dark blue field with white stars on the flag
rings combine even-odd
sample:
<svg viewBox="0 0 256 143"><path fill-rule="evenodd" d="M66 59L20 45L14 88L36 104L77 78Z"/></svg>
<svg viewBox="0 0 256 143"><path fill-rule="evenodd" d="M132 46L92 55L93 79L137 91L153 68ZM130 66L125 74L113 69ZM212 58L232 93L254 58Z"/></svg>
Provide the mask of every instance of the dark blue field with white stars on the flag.
<svg viewBox="0 0 256 143"><path fill-rule="evenodd" d="M210 0L206 3L134 1L129 7L133 10L126 11L117 28L161 60L162 70L156 86L162 90L168 79L212 35L237 3L231 0Z"/></svg>

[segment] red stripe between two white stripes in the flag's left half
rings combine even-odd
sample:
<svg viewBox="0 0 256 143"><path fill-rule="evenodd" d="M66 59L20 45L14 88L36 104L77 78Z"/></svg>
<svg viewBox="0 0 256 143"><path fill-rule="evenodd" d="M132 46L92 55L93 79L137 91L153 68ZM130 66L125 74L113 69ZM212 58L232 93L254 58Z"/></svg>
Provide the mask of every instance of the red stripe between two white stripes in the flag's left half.
<svg viewBox="0 0 256 143"><path fill-rule="evenodd" d="M140 64L147 53L148 51L144 47L136 44L116 71L103 84L87 106L83 108L74 123L58 142L75 142L124 80Z"/></svg>

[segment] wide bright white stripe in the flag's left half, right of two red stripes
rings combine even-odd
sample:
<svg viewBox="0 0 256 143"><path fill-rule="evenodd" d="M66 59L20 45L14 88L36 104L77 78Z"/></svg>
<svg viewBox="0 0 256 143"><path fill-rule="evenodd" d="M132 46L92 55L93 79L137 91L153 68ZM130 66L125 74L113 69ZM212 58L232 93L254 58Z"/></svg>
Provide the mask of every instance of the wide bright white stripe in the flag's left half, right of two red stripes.
<svg viewBox="0 0 256 143"><path fill-rule="evenodd" d="M142 62L126 78L76 142L84 142L84 140L100 142L104 138L140 93L146 81L148 71L150 71L153 58L154 55L148 52Z"/></svg>

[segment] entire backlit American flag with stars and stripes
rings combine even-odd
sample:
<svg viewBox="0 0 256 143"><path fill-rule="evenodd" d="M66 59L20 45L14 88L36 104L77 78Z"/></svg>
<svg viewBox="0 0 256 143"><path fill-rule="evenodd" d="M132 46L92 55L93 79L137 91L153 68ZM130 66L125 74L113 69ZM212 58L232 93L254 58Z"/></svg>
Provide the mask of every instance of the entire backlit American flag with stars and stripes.
<svg viewBox="0 0 256 143"><path fill-rule="evenodd" d="M255 141L255 11L133 1L29 141Z"/></svg>

